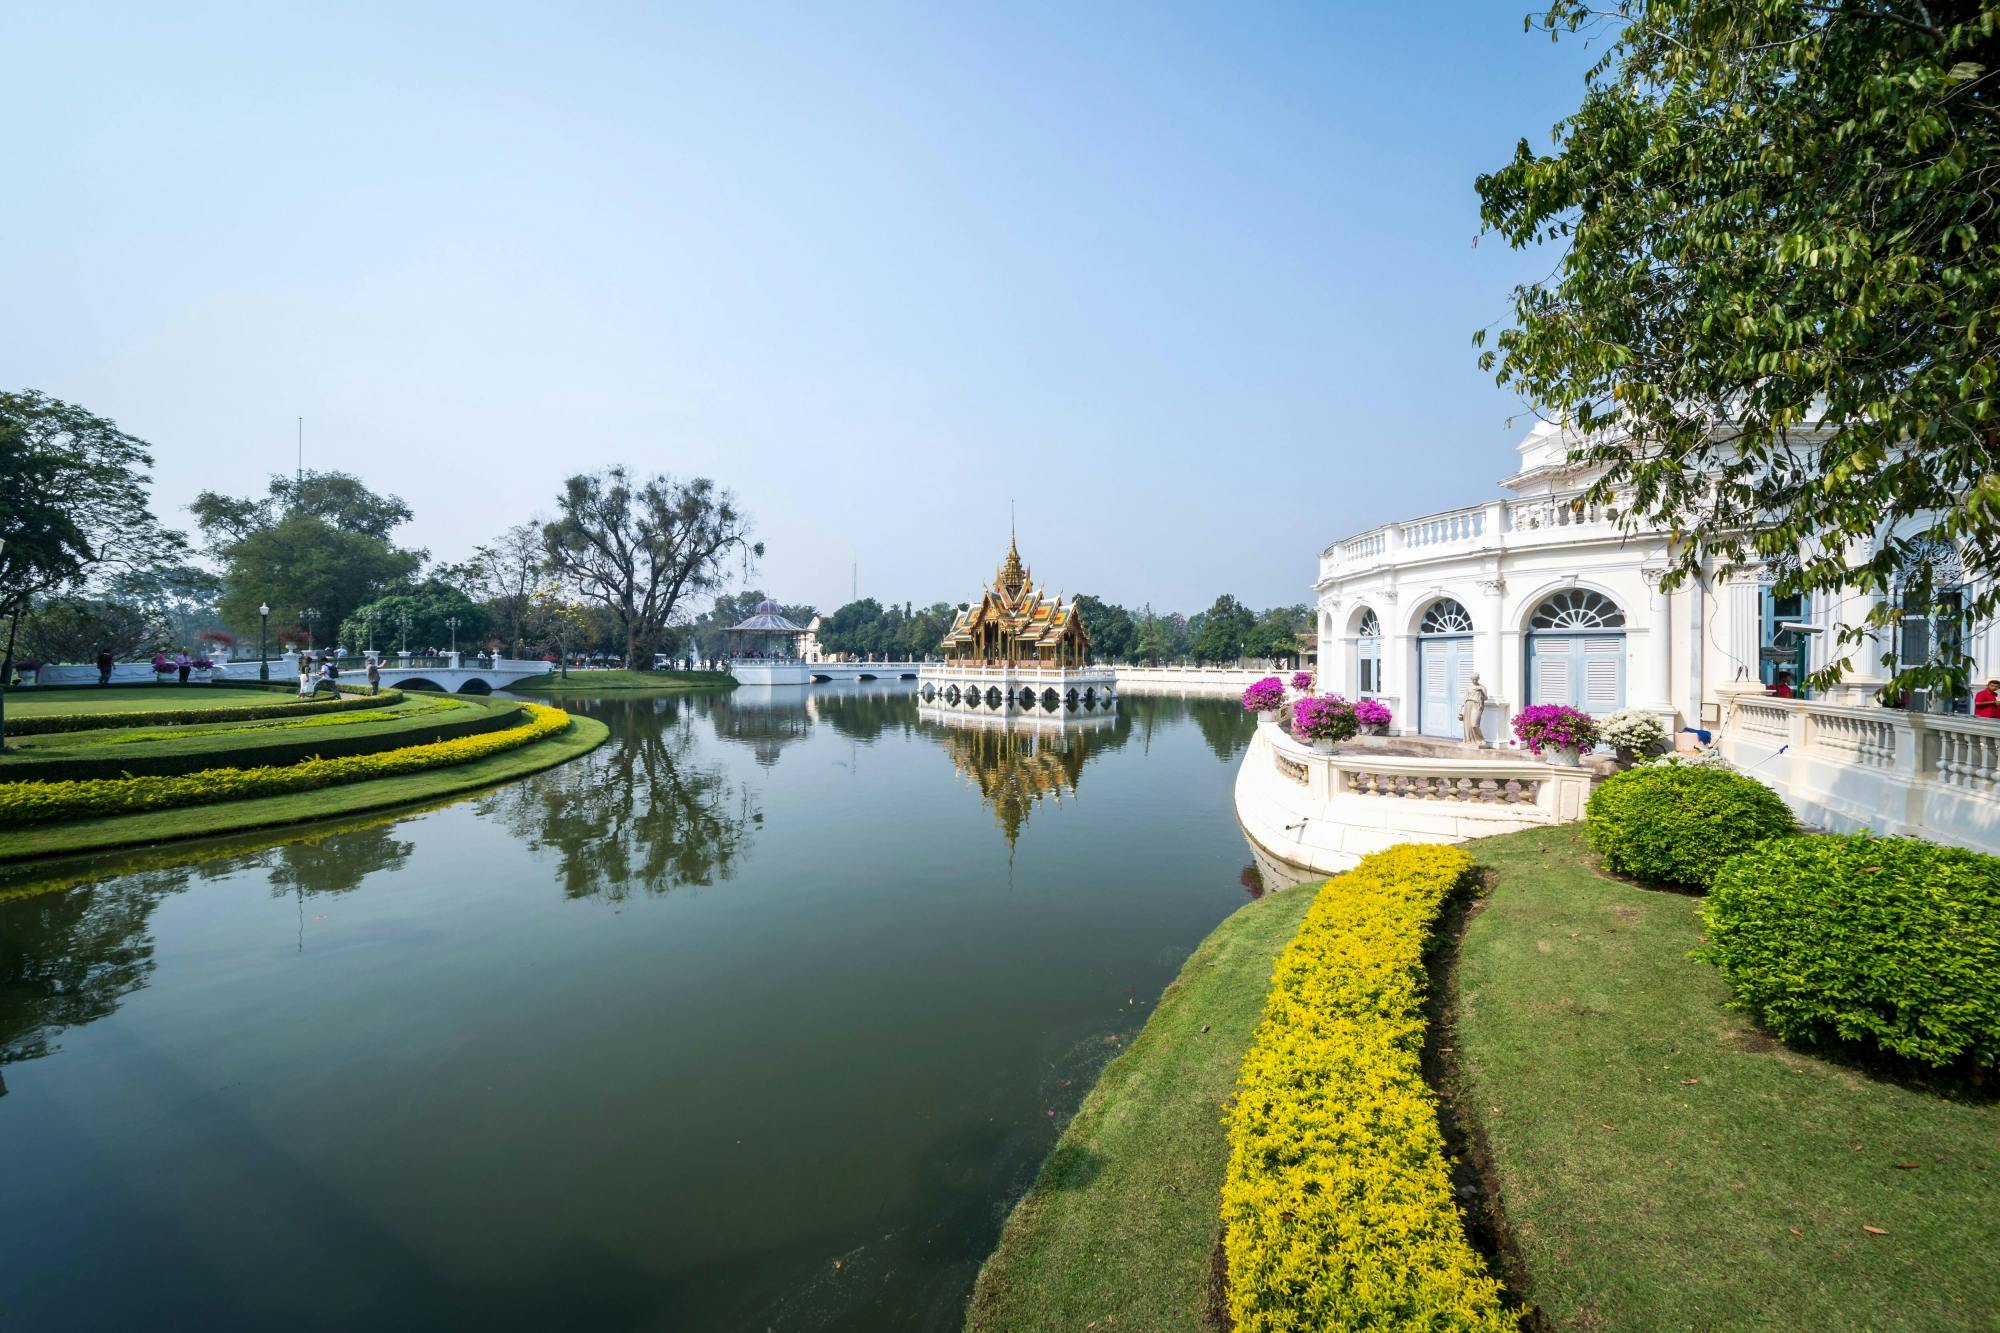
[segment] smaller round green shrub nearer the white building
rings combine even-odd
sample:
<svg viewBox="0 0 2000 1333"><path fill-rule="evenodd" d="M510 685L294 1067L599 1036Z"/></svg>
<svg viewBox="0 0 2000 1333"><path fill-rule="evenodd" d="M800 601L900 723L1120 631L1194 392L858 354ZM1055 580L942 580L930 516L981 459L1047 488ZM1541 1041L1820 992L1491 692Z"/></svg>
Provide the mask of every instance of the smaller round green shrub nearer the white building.
<svg viewBox="0 0 2000 1333"><path fill-rule="evenodd" d="M1584 837L1604 869L1652 885L1706 889L1722 863L1764 839L1796 833L1770 787L1726 769L1646 765L1604 779Z"/></svg>

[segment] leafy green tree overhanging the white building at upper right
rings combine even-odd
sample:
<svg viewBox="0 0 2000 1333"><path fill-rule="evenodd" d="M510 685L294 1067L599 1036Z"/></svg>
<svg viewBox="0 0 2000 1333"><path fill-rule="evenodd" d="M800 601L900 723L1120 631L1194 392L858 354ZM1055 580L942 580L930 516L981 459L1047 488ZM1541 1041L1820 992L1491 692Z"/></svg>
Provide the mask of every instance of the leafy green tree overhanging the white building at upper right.
<svg viewBox="0 0 2000 1333"><path fill-rule="evenodd" d="M1896 685L1956 689L2000 602L2000 6L1600 14L1552 2L1610 48L1554 150L1478 180L1510 244L1560 246L1482 366L1582 434L1594 500L1674 534L1670 582L1762 560L1866 594L1816 685L1916 614L1956 624Z"/></svg>

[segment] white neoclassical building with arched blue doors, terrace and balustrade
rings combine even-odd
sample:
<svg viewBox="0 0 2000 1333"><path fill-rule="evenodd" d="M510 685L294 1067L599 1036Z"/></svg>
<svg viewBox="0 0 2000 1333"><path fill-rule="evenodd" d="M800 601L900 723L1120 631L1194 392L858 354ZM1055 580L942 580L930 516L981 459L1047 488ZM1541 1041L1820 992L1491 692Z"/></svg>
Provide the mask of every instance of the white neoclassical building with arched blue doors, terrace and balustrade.
<svg viewBox="0 0 2000 1333"><path fill-rule="evenodd" d="M1238 775L1246 833L1314 871L1352 865L1398 839L1456 841L1580 815L1570 775L1508 753L1512 717L1564 703L1594 715L1636 707L1670 733L1704 733L1738 769L1770 783L1808 825L1876 829L2000 853L2000 721L1956 699L1886 701L1884 654L1928 658L1956 632L1904 614L1852 648L1824 697L1798 687L1828 660L1860 594L1778 596L1770 570L1706 570L1662 586L1668 534L1626 530L1586 504L1592 476L1576 438L1552 424L1520 442L1502 494L1344 536L1320 552L1318 689L1390 705L1402 735L1458 739L1474 673L1490 747L1318 755L1258 729ZM1944 598L1958 560L1928 560ZM2000 630L1964 642L1972 687L2000 675ZM1894 703L1898 707L1886 707ZM1686 731L1684 731L1686 729ZM1348 747L1342 747L1348 751ZM1526 767L1524 767L1526 765Z"/></svg>

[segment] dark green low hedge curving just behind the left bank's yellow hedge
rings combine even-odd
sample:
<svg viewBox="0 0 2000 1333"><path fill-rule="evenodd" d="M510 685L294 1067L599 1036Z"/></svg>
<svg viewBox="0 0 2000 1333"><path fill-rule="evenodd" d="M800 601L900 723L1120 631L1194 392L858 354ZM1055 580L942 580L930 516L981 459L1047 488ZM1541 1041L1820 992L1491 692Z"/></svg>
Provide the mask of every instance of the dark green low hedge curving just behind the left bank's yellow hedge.
<svg viewBox="0 0 2000 1333"><path fill-rule="evenodd" d="M474 705L474 701L464 701ZM320 721L320 719L312 719ZM374 755L406 745L428 745L432 741L452 741L456 737L478 737L488 731L502 731L520 723L520 705L508 699L476 701L462 713L430 717L418 715L400 727L380 729L378 723L362 723L356 733L344 735L340 729L308 727L298 733L244 733L240 739L228 735L208 737L210 745L190 747L174 753L120 753L104 747L100 753L36 757L34 751L10 755L0 765L0 781L8 783L76 783L88 779L116 777L180 777L202 769L262 769L270 765L296 765L302 759L340 759L348 755ZM362 731L366 727L368 731Z"/></svg>

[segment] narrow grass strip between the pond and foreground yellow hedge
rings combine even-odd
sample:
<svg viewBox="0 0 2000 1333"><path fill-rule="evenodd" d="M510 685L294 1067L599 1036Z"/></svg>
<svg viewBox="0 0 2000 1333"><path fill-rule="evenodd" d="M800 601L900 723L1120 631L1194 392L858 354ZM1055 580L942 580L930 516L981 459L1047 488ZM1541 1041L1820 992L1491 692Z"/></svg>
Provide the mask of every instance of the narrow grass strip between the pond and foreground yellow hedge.
<svg viewBox="0 0 2000 1333"><path fill-rule="evenodd" d="M1238 909L1104 1069L980 1269L966 1329L1212 1327L1222 1105L1314 889ZM1206 1029L1206 1031L1204 1031Z"/></svg>

